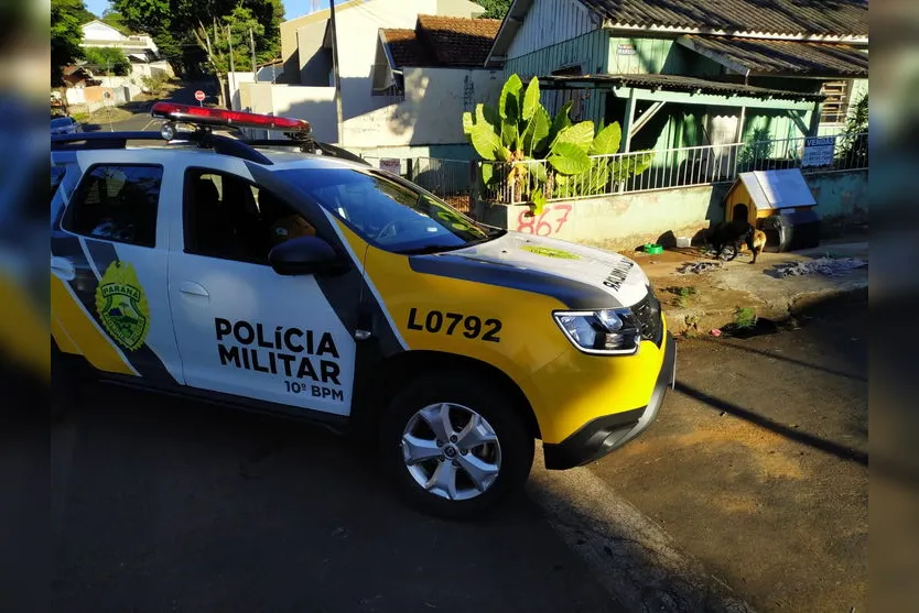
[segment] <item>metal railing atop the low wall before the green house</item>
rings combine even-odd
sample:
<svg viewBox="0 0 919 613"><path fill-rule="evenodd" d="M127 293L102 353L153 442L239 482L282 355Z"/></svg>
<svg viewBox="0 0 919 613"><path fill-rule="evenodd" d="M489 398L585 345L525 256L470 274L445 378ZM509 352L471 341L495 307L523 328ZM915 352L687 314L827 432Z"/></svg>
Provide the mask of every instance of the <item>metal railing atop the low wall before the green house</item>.
<svg viewBox="0 0 919 613"><path fill-rule="evenodd" d="M480 172L491 178L479 198L519 204L541 193L547 200L561 200L731 183L753 171L819 174L868 167L867 133L837 136L834 154L820 165L802 164L804 142L797 138L593 155L590 168L573 176L555 172L545 160L482 162Z"/></svg>

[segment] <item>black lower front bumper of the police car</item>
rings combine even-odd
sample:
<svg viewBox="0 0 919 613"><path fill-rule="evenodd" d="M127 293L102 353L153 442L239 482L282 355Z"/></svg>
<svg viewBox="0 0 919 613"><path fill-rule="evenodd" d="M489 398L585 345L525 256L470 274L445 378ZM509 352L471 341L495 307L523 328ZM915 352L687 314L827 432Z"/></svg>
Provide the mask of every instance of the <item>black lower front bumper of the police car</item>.
<svg viewBox="0 0 919 613"><path fill-rule="evenodd" d="M663 364L655 383L650 402L642 407L604 415L585 424L558 444L543 444L545 468L565 470L597 460L644 433L658 415L667 390L677 376L677 341L667 332Z"/></svg>

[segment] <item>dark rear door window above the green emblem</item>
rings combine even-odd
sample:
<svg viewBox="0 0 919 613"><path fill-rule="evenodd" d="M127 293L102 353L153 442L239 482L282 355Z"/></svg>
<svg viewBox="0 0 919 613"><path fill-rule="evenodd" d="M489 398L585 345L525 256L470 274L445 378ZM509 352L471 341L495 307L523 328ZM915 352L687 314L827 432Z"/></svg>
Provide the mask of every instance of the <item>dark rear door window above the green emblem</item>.
<svg viewBox="0 0 919 613"><path fill-rule="evenodd" d="M154 247L160 166L100 165L80 182L64 229L100 240Z"/></svg>

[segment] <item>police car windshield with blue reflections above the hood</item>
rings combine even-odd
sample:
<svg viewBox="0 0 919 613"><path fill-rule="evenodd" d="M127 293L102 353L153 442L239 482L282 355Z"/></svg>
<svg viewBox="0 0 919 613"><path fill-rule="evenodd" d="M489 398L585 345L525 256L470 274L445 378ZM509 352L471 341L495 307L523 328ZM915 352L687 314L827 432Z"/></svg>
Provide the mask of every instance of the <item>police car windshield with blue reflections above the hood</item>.
<svg viewBox="0 0 919 613"><path fill-rule="evenodd" d="M279 173L372 244L399 253L434 253L485 242L504 230L476 223L436 198L370 171L322 168Z"/></svg>

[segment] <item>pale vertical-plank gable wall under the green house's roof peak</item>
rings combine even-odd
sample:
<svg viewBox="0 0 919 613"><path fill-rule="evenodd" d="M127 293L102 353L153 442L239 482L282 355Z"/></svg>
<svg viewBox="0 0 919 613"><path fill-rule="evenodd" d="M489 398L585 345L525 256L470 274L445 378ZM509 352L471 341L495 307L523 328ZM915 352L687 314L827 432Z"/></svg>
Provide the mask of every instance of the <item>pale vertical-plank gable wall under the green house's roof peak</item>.
<svg viewBox="0 0 919 613"><path fill-rule="evenodd" d="M581 36L599 28L577 0L534 0L508 50L508 58Z"/></svg>

